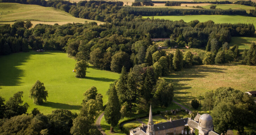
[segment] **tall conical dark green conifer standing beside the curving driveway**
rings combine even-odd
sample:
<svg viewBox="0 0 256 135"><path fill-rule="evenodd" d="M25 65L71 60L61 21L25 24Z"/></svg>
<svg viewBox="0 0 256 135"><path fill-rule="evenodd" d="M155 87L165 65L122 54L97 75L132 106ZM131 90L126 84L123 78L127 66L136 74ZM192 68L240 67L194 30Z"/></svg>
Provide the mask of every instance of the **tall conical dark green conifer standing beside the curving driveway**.
<svg viewBox="0 0 256 135"><path fill-rule="evenodd" d="M114 133L114 127L121 119L120 110L121 107L116 93L115 85L112 83L109 87L108 102L104 114L106 122L110 124L110 133Z"/></svg>

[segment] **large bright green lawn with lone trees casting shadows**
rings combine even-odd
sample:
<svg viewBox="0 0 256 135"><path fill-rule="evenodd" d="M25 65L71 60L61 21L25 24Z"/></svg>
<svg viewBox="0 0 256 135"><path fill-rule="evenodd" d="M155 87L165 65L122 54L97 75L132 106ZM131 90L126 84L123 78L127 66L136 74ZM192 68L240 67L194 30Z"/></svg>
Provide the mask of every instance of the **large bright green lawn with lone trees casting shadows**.
<svg viewBox="0 0 256 135"><path fill-rule="evenodd" d="M22 100L29 104L28 113L33 108L38 108L43 114L55 109L78 113L83 93L92 86L103 95L106 104L109 84L119 78L118 73L93 67L87 69L85 79L76 78L72 72L75 60L59 51L14 53L0 56L0 63L0 96L7 101L14 93L23 91ZM47 102L41 106L29 98L29 90L37 80L43 82L48 91Z"/></svg>

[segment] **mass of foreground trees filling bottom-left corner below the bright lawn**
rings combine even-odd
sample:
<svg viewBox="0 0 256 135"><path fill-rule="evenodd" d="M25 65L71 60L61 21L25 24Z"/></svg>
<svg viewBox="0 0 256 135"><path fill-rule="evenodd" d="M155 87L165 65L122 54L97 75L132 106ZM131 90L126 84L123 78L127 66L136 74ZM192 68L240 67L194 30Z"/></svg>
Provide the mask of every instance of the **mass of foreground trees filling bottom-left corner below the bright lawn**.
<svg viewBox="0 0 256 135"><path fill-rule="evenodd" d="M41 84L36 83L33 88L39 88L38 85ZM26 113L29 105L22 104L23 92L15 93L6 103L0 97L0 134L102 135L93 124L103 110L102 95L91 87L83 96L79 114L56 109L48 115L40 113L37 108Z"/></svg>

